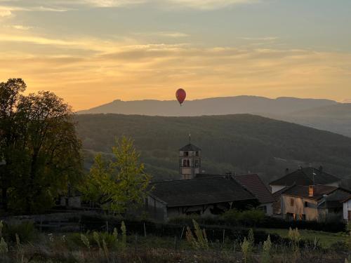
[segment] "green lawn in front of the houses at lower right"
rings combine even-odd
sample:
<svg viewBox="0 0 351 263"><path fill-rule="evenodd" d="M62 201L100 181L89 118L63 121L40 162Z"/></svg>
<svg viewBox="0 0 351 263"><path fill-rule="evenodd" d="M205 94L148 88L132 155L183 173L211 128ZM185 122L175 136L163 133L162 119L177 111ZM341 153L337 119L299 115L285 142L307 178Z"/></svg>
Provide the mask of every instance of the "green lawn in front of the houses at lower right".
<svg viewBox="0 0 351 263"><path fill-rule="evenodd" d="M289 229L260 229L266 231L267 233L278 234L282 238L287 238L289 234ZM343 242L346 240L347 235L345 233L329 233L323 231L314 231L314 230L298 230L301 238L303 240L314 241L314 238L317 238L317 241L321 243L323 248L329 248L333 243Z"/></svg>

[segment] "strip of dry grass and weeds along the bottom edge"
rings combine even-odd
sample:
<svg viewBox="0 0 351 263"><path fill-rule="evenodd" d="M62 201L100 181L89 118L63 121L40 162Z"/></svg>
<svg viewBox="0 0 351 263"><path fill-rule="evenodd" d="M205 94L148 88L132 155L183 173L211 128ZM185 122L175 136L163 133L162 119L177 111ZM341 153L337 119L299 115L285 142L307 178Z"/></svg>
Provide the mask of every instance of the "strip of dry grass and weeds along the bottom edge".
<svg viewBox="0 0 351 263"><path fill-rule="evenodd" d="M88 236L88 235L87 235ZM120 241L118 241L120 242ZM32 243L8 243L8 252L0 254L0 262L62 262L62 263L229 263L243 262L240 246L227 241L223 246L210 245L208 249L194 250L187 241L176 244L173 238L154 236L128 236L126 250L118 243L110 243L107 247L99 248L91 242L87 248L77 234L47 235L41 234ZM256 246L248 262L260 262L262 248ZM301 249L298 253L291 252L289 247L279 247L273 244L270 262L345 262L345 253L331 250Z"/></svg>

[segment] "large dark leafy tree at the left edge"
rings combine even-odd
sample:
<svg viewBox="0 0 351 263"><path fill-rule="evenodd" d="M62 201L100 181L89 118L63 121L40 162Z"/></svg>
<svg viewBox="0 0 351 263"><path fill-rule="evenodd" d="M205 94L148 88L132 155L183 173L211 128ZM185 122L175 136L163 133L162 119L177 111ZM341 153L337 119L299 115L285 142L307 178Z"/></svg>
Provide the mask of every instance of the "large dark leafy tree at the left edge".
<svg viewBox="0 0 351 263"><path fill-rule="evenodd" d="M1 201L4 208L40 212L81 180L72 109L54 93L22 95L21 79L0 83L0 90Z"/></svg>

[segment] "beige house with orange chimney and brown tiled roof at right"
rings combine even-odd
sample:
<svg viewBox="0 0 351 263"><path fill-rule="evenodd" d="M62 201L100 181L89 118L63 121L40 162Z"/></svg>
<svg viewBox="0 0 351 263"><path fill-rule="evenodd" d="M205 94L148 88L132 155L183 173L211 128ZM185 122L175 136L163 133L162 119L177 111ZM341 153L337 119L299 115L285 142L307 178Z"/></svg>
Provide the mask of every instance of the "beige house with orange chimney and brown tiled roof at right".
<svg viewBox="0 0 351 263"><path fill-rule="evenodd" d="M350 191L326 185L295 185L281 196L282 216L286 220L343 220L343 203Z"/></svg>

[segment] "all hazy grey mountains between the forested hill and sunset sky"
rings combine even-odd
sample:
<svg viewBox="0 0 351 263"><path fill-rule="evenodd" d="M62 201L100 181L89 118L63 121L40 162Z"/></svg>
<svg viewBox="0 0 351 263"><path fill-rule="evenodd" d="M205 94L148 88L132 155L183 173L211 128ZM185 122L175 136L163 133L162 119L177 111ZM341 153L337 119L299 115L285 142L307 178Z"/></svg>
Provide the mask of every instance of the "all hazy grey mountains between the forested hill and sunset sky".
<svg viewBox="0 0 351 263"><path fill-rule="evenodd" d="M135 100L103 104L77 114L138 114L147 116L205 116L257 114L260 116L329 130L351 137L351 103L333 100L256 96L214 97L189 100L182 107L176 100Z"/></svg>

